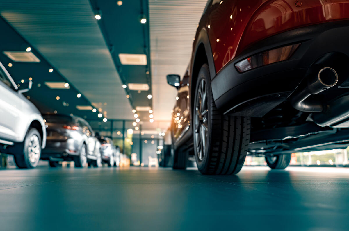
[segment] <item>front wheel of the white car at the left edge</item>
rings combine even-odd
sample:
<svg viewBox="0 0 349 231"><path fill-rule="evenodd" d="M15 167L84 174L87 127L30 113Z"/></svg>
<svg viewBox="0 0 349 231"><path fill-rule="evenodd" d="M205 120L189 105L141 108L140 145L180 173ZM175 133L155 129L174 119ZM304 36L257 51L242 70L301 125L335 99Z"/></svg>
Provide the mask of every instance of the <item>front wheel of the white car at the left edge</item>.
<svg viewBox="0 0 349 231"><path fill-rule="evenodd" d="M41 136L38 130L36 128L30 128L23 143L18 144L21 153L14 155L17 167L20 169L32 169L38 165L41 156L41 142ZM31 148L34 145L35 147Z"/></svg>

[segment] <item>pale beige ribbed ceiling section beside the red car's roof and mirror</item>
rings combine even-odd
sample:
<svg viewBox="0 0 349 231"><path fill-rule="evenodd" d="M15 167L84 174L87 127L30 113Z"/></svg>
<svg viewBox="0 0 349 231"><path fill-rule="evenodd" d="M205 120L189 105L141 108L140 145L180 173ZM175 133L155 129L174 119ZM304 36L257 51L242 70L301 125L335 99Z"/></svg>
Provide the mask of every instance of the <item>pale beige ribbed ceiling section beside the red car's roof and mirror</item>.
<svg viewBox="0 0 349 231"><path fill-rule="evenodd" d="M177 93L167 84L166 75L183 76L191 57L196 25L206 2L149 0L153 108L157 119L171 118Z"/></svg>

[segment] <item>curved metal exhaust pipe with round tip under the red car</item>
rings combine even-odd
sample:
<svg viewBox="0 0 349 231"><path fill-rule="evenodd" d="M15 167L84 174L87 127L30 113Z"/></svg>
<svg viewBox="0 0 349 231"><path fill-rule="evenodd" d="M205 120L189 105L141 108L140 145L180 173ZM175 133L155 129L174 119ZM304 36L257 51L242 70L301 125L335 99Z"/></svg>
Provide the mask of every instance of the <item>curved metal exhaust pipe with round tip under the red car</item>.
<svg viewBox="0 0 349 231"><path fill-rule="evenodd" d="M338 82L338 75L331 67L322 68L318 75L308 80L307 87L291 98L292 106L303 112L322 112L324 106L320 102L306 100L310 95L319 94Z"/></svg>

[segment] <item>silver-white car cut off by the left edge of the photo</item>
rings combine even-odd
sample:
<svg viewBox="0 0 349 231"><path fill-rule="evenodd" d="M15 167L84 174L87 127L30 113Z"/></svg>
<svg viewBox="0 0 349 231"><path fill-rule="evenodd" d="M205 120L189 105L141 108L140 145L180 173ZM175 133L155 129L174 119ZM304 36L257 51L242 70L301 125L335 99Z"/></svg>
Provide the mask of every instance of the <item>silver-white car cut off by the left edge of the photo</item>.
<svg viewBox="0 0 349 231"><path fill-rule="evenodd" d="M32 82L17 87L0 62L0 152L13 154L20 168L38 165L45 148L46 128L39 110L22 93Z"/></svg>

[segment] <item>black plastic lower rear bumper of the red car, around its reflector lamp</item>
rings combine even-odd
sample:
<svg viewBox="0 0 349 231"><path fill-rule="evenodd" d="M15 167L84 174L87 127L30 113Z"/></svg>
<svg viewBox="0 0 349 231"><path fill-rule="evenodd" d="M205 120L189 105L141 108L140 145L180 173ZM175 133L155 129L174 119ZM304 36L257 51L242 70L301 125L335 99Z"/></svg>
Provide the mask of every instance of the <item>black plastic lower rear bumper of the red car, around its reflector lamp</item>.
<svg viewBox="0 0 349 231"><path fill-rule="evenodd" d="M211 86L217 108L229 114L262 116L268 108L283 102L296 89L319 57L331 52L349 57L348 25L348 21L312 25L274 35L250 46L213 78ZM244 73L239 73L235 67L237 62L252 55L297 43L300 46L286 61ZM261 102L271 103L266 105ZM256 111L259 115L255 114Z"/></svg>

